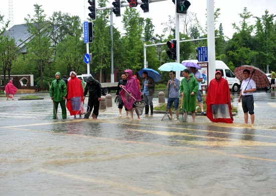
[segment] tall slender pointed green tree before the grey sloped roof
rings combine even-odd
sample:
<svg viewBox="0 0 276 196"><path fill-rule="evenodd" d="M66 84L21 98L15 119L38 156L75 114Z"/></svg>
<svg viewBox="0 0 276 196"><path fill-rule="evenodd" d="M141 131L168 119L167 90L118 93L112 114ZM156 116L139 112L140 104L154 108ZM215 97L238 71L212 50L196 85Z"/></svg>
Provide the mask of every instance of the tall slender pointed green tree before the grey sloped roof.
<svg viewBox="0 0 276 196"><path fill-rule="evenodd" d="M41 7L35 4L35 15L33 18L28 15L29 18L25 18L25 22L28 25L28 32L33 36L33 39L27 43L27 56L29 62L36 66L41 77L40 88L44 90L43 73L45 67L50 63L53 53L49 38L50 23L46 21L46 15L43 14L44 10Z"/></svg>

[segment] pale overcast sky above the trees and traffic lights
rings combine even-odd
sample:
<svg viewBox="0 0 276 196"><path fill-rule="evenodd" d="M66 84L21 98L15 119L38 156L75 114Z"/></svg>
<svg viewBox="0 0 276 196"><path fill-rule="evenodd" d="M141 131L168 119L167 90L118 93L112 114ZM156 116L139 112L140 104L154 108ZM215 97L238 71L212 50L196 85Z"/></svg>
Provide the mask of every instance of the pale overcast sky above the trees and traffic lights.
<svg viewBox="0 0 276 196"><path fill-rule="evenodd" d="M5 15L4 21L9 19L9 2L12 0L0 0L0 14ZM208 0L190 0L191 6L188 9L188 13L192 12L197 15L201 26L205 28L206 24L206 8ZM109 0L110 3L106 3L109 7L112 5L112 0ZM126 1L125 1L126 2ZM24 24L24 18L27 18L28 14L33 16L34 13L34 4L42 6L44 13L47 17L50 17L53 12L61 11L62 13L69 13L72 16L78 15L82 21L86 21L88 18L89 10L87 9L89 4L87 0L28 0L28 1L13 1L13 23L14 25ZM264 11L268 10L269 14L276 14L276 1L275 0L214 0L214 8L220 8L220 16L217 19L216 29L220 23L222 23L223 33L225 36L232 38L233 30L232 23L239 25L241 18L239 14L243 12L244 7L247 8L253 16L261 17L264 15ZM140 8L140 5L135 8L139 10L141 17L151 18L155 26L155 34L163 34L163 29L165 26L162 26L161 23L168 22L169 15L175 15L175 5L171 0L165 0L162 2L150 3L150 12L144 13ZM121 15L125 11L125 8L121 8ZM276 17L274 18L276 19ZM249 25L255 24L254 18L251 18L248 22ZM115 17L113 15L113 24L118 30L122 30L122 17ZM95 27L96 28L96 27ZM183 32L183 28L180 27L180 31Z"/></svg>

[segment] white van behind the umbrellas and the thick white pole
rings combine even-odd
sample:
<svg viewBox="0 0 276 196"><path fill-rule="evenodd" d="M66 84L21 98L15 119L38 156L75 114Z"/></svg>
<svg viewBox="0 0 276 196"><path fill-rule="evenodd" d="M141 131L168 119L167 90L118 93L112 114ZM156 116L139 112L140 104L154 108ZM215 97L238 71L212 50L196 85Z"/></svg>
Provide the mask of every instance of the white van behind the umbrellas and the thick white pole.
<svg viewBox="0 0 276 196"><path fill-rule="evenodd" d="M183 62L193 62L197 63L197 60L185 60ZM222 77L225 78L229 84L229 89L232 92L237 92L240 88L240 81L236 78L235 74L228 68L228 66L223 61L216 60L216 71L221 71ZM199 70L200 71L200 70ZM180 81L183 79L182 72L180 72Z"/></svg>

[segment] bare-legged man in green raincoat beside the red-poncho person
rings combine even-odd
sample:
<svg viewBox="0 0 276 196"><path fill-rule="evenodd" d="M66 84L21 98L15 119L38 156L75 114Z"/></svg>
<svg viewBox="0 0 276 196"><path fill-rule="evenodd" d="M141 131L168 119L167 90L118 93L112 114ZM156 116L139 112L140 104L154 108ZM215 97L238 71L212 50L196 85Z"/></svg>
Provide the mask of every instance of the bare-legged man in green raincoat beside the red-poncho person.
<svg viewBox="0 0 276 196"><path fill-rule="evenodd" d="M195 122L198 81L192 74L189 74L188 69L185 69L182 74L185 77L180 84L180 93L184 96L183 108L187 112L192 112L193 122Z"/></svg>

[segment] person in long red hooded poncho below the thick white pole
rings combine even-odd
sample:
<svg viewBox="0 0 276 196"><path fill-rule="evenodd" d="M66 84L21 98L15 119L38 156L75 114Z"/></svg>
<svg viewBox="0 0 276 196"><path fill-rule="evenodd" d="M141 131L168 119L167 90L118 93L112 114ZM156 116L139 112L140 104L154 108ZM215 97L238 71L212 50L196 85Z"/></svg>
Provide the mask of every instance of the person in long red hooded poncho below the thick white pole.
<svg viewBox="0 0 276 196"><path fill-rule="evenodd" d="M209 84L206 104L206 116L212 122L233 123L229 85L220 71L216 71L215 78Z"/></svg>

